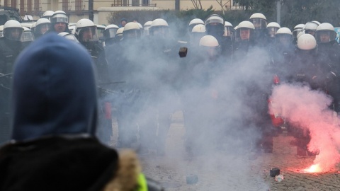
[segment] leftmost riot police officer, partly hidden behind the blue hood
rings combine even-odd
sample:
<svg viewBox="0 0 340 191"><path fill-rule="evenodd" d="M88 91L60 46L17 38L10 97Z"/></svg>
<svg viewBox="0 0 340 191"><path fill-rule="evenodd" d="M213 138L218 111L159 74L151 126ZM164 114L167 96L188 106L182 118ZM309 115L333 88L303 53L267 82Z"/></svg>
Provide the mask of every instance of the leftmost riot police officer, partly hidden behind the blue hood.
<svg viewBox="0 0 340 191"><path fill-rule="evenodd" d="M0 37L0 144L9 139L9 95L13 64L23 49L21 37L23 28L18 21L4 24L4 37Z"/></svg>

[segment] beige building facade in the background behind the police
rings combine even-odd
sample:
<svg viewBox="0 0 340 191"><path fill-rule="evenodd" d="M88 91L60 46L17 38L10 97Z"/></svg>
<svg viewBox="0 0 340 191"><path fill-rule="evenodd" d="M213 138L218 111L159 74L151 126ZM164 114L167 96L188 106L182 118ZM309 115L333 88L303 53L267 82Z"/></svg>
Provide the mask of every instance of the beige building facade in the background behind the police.
<svg viewBox="0 0 340 191"><path fill-rule="evenodd" d="M22 17L30 15L33 19L40 18L47 10L62 10L69 14L70 23L75 23L81 18L89 18L89 1L93 1L94 23L100 24L108 24L106 18L111 11L176 8L188 10L206 9L210 6L215 10L237 8L233 0L0 0L0 5L18 8Z"/></svg>

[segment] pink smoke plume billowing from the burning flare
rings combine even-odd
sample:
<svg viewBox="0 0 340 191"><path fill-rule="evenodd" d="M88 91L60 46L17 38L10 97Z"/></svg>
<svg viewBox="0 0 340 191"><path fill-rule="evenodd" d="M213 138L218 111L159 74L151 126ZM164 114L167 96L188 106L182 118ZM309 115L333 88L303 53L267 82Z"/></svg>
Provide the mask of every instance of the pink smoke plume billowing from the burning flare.
<svg viewBox="0 0 340 191"><path fill-rule="evenodd" d="M327 172L340 162L340 127L338 117L329 109L330 96L300 83L281 84L273 88L271 100L287 122L310 130L308 150L319 151L313 164L319 167L317 172Z"/></svg>

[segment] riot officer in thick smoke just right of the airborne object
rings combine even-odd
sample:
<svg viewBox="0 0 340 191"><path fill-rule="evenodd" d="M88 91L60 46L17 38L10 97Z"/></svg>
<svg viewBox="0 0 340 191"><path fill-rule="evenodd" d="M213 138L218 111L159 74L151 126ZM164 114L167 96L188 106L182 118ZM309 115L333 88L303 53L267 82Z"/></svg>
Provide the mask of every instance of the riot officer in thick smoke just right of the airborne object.
<svg viewBox="0 0 340 191"><path fill-rule="evenodd" d="M217 62L220 45L215 37L205 35L196 50L198 52L195 57L191 57L186 70L186 86L181 94L186 128L185 146L190 157L215 149L220 144L218 141L225 138L220 137L222 96L218 95L214 86L221 71L220 62Z"/></svg>

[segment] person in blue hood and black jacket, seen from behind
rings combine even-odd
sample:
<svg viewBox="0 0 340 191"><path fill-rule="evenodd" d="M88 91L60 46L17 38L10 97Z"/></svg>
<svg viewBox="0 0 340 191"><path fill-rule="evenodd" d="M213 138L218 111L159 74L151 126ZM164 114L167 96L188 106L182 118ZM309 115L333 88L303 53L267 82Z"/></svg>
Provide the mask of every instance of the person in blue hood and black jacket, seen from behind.
<svg viewBox="0 0 340 191"><path fill-rule="evenodd" d="M81 45L47 34L22 52L11 109L12 141L0 149L0 190L142 187L135 154L118 156L96 139L94 64Z"/></svg>

